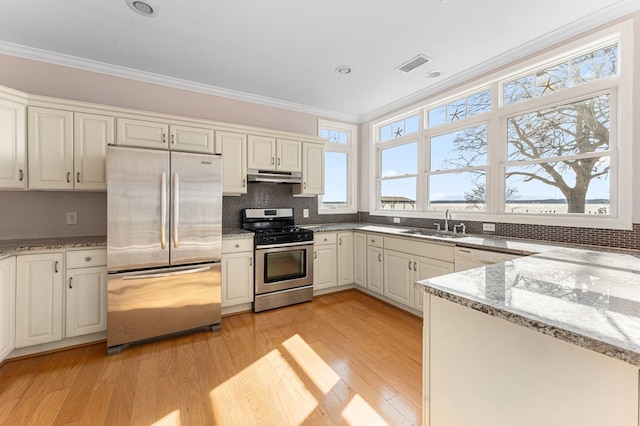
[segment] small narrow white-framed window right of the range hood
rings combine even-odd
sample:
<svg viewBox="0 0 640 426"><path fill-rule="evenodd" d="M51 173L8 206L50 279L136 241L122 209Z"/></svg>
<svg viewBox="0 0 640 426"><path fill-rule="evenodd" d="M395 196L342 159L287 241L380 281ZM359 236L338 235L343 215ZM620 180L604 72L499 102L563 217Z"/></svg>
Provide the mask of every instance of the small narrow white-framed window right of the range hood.
<svg viewBox="0 0 640 426"><path fill-rule="evenodd" d="M318 133L326 138L324 195L318 197L318 213L357 213L356 126L318 121Z"/></svg>

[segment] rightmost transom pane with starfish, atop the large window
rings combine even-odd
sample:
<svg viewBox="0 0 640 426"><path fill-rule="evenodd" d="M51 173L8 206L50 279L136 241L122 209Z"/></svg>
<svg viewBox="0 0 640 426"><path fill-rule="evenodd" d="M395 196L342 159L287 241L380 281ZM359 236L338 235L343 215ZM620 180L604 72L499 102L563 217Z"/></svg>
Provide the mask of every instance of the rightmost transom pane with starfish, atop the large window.
<svg viewBox="0 0 640 426"><path fill-rule="evenodd" d="M524 102L617 73L618 46L613 44L504 83L503 103Z"/></svg>

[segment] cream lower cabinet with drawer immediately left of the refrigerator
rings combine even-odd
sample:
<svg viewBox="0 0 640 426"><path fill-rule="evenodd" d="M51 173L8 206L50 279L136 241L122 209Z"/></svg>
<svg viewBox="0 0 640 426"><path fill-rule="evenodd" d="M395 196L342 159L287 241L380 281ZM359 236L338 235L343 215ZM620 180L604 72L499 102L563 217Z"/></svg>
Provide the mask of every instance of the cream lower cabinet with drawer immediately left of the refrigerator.
<svg viewBox="0 0 640 426"><path fill-rule="evenodd" d="M67 252L65 337L107 329L106 250Z"/></svg>

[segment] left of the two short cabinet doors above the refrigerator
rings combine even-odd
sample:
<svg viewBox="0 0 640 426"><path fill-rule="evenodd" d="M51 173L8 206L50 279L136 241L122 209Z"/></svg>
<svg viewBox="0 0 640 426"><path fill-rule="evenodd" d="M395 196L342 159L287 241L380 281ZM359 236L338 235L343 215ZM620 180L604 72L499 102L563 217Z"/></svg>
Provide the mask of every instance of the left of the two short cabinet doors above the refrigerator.
<svg viewBox="0 0 640 426"><path fill-rule="evenodd" d="M169 125L154 121L116 119L116 144L140 148L169 149Z"/></svg>

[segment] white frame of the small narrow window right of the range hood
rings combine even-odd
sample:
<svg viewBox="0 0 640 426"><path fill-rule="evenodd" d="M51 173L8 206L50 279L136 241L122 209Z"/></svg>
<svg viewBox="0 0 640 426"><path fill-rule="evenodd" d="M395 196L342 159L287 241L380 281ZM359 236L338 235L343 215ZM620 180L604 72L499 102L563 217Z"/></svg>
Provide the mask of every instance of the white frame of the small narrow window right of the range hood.
<svg viewBox="0 0 640 426"><path fill-rule="evenodd" d="M332 143L327 141L324 145L324 151L344 153L347 155L347 203L345 206L328 207L322 203L324 195L318 195L318 214L353 214L358 213L358 126L353 124L341 123L337 121L318 119L318 136L323 130L333 130L337 132L345 132L347 134L347 143ZM327 175L328 162L325 161L324 175ZM326 190L326 188L325 188Z"/></svg>

